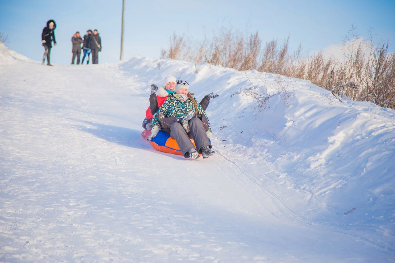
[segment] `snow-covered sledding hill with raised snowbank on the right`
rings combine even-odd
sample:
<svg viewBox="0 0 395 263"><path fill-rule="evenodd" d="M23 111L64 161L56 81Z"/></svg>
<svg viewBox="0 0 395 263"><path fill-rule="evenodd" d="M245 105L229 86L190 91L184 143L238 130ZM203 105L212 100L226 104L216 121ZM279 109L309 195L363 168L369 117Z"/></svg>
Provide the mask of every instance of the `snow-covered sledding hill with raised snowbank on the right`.
<svg viewBox="0 0 395 263"><path fill-rule="evenodd" d="M299 79L197 70L143 57L49 67L1 45L0 261L395 262L395 111ZM169 74L198 99L220 94L215 156L142 139L150 84Z"/></svg>

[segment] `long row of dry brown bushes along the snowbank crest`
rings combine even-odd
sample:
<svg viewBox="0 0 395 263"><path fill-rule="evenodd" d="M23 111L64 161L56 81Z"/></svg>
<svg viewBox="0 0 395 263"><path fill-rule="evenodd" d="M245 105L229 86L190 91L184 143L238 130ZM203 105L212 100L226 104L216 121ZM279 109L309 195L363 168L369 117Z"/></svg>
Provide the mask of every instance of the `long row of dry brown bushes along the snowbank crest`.
<svg viewBox="0 0 395 263"><path fill-rule="evenodd" d="M352 25L341 45L344 61L339 61L325 58L323 52L303 57L301 45L289 54L289 36L282 44L273 39L261 49L258 32L243 34L222 27L211 41L205 38L199 44L196 41L187 43L184 36L174 34L169 50L162 49L161 57L195 62L196 72L196 63L209 62L236 70L256 69L306 79L340 97L371 101L394 109L395 54L388 52L388 42L375 45L372 37L370 40L359 38Z"/></svg>

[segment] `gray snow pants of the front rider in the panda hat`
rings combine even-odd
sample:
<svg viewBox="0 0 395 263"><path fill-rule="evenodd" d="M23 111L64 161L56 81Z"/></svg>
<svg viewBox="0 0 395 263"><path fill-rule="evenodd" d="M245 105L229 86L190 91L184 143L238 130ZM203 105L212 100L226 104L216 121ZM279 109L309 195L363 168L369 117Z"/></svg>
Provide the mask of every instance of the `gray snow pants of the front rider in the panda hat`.
<svg viewBox="0 0 395 263"><path fill-rule="evenodd" d="M162 126L165 130L168 128L166 125L167 123L162 121ZM186 133L182 125L178 122L173 122L170 126L170 137L175 139L184 156L188 150L195 148L191 139L194 140L196 149L199 153L201 147L205 145L209 145L211 148L211 143L207 137L203 122L201 122L199 118L192 118L192 120L189 121L189 127L191 130Z"/></svg>

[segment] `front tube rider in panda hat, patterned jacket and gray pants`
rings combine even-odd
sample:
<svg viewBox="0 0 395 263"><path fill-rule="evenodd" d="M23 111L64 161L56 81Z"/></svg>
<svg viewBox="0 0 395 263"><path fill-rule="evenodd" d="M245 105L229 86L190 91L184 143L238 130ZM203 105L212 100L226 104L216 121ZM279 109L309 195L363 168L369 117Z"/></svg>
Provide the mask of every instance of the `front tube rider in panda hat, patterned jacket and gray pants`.
<svg viewBox="0 0 395 263"><path fill-rule="evenodd" d="M158 134L159 124L162 122L164 130L169 130L170 137L175 139L185 158L198 159L199 153L203 158L207 158L215 154L207 136L207 132L211 133L209 119L188 90L189 85L186 81L177 81L175 93L169 94L166 101L154 114L151 135L147 140L150 141ZM203 126L203 118L200 119L199 116L204 116L207 119L207 132ZM167 118L166 122L165 118ZM191 139L194 140L196 148Z"/></svg>

